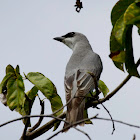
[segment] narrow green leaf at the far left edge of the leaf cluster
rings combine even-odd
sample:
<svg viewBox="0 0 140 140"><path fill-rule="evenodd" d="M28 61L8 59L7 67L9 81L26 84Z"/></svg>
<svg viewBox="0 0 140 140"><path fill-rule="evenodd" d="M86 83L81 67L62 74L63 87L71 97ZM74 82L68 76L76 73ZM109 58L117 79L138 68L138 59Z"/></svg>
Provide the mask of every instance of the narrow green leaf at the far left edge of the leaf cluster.
<svg viewBox="0 0 140 140"><path fill-rule="evenodd" d="M13 73L7 73L6 76L3 78L2 82L0 83L0 93L6 89L6 84L8 80L13 76Z"/></svg>

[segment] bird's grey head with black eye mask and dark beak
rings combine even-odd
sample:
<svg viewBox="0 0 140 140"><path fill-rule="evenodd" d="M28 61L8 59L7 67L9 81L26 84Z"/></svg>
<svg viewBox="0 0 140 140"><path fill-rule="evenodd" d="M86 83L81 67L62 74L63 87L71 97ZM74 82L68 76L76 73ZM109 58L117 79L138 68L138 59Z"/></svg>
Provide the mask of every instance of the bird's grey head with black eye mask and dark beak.
<svg viewBox="0 0 140 140"><path fill-rule="evenodd" d="M69 32L61 37L55 37L54 40L64 43L72 50L74 49L76 43L82 43L88 41L85 35L78 32Z"/></svg>

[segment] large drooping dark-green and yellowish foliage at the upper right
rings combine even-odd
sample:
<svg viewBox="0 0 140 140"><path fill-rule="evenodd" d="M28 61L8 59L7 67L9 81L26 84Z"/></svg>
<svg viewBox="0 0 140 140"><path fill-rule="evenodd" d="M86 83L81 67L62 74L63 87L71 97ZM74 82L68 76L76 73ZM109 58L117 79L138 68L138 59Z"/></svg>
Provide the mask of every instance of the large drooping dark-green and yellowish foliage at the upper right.
<svg viewBox="0 0 140 140"><path fill-rule="evenodd" d="M139 0L120 0L111 12L113 25L110 36L110 57L115 66L131 76L139 77L133 56L132 28L136 25L140 29Z"/></svg>

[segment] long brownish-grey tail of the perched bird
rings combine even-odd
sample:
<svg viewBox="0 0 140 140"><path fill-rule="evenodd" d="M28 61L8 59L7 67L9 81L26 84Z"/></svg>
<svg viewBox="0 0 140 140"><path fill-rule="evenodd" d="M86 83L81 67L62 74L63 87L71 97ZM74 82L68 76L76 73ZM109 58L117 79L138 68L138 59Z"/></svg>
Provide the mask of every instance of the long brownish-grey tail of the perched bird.
<svg viewBox="0 0 140 140"><path fill-rule="evenodd" d="M73 108L69 111L67 110L67 114L66 114L66 121L68 123L64 123L64 131L63 132L67 132L70 128L67 128L69 126L69 124L74 124L77 121L83 120L84 119L84 108L85 108L85 99L82 101L82 103L79 105L79 107L77 108ZM80 126L84 126L84 122L78 124ZM74 125L75 127L76 125Z"/></svg>

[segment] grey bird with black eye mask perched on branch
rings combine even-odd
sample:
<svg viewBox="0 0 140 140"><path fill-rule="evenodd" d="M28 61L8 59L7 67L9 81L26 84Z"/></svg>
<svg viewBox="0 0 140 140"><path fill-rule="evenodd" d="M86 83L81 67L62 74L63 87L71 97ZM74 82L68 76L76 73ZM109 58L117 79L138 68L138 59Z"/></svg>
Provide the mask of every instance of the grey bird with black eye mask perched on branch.
<svg viewBox="0 0 140 140"><path fill-rule="evenodd" d="M64 78L68 123L64 123L63 132L67 132L68 125L84 119L85 96L95 89L95 81L90 73L93 73L98 81L103 65L100 56L93 51L84 34L69 32L61 37L55 37L54 40L64 43L73 51ZM83 126L84 123L79 125Z"/></svg>

